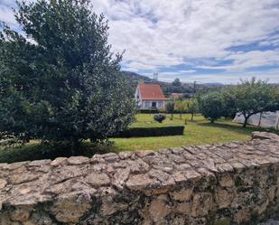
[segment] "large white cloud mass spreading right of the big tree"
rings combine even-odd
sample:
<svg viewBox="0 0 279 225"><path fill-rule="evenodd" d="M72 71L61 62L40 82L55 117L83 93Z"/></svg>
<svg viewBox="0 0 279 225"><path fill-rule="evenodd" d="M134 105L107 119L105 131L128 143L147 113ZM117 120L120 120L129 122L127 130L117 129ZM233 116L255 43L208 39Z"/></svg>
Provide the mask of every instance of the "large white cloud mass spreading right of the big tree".
<svg viewBox="0 0 279 225"><path fill-rule="evenodd" d="M278 42L278 35L272 35L279 29L277 0L110 0L93 4L110 21L114 50L126 49L124 60L136 61L138 70L142 64L160 69L210 58L234 61L226 70L238 66L245 70L256 63L270 64L267 60L278 54L275 50L259 57L258 52L228 50L252 42ZM278 65L278 61L273 63Z"/></svg>

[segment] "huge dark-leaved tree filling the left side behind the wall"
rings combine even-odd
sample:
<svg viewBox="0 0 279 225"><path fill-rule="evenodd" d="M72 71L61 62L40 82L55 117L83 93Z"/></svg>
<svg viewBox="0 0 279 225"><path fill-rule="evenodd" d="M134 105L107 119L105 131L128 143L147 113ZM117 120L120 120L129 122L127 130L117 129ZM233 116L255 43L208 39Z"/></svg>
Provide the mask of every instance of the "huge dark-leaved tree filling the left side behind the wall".
<svg viewBox="0 0 279 225"><path fill-rule="evenodd" d="M124 130L135 103L111 52L107 21L89 0L18 3L21 35L3 25L0 134L29 141L97 142Z"/></svg>

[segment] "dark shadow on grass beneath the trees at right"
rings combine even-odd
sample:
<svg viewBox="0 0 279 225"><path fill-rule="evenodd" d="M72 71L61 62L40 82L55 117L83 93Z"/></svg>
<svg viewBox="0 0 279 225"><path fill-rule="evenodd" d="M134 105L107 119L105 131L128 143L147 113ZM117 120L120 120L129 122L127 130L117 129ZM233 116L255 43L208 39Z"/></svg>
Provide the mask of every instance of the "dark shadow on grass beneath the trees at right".
<svg viewBox="0 0 279 225"><path fill-rule="evenodd" d="M242 127L240 124L228 124L228 123L222 123L222 122L216 122L216 123L199 123L197 122L197 126L200 127L218 127L223 129L228 129L230 131L234 131L240 134L251 134L254 131L265 131L265 132L272 132L274 134L279 135L279 130L275 130L273 128L264 128L264 127L253 127L253 126L247 126Z"/></svg>

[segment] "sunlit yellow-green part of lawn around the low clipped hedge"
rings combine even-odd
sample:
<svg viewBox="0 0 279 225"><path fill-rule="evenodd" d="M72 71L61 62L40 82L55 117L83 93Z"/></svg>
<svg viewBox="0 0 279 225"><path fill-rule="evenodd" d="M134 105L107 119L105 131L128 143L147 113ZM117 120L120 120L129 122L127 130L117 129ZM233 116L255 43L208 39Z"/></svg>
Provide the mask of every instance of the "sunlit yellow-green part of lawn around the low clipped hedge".
<svg viewBox="0 0 279 225"><path fill-rule="evenodd" d="M139 114L136 122L131 127L150 127L183 125L184 118L191 118L190 115L174 115L173 120L170 115L159 124L153 120L153 115ZM181 145L202 145L225 143L230 141L244 141L250 138L251 132L264 130L260 127L243 128L239 124L232 123L229 119L219 119L211 124L209 120L197 115L193 121L188 121L183 136L152 136L152 137L130 137L112 138L116 143L115 151L135 151L135 150L157 150L160 148L177 147ZM274 130L273 130L274 131ZM274 131L275 132L275 131ZM279 134L277 131L276 133Z"/></svg>

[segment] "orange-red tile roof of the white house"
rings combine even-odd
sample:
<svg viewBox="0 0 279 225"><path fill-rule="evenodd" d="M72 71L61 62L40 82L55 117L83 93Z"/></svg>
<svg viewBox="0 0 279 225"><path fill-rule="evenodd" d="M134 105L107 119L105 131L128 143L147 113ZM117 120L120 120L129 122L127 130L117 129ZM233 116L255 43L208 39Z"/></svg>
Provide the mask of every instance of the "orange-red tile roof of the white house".
<svg viewBox="0 0 279 225"><path fill-rule="evenodd" d="M158 84L142 83L138 85L143 100L166 100Z"/></svg>

